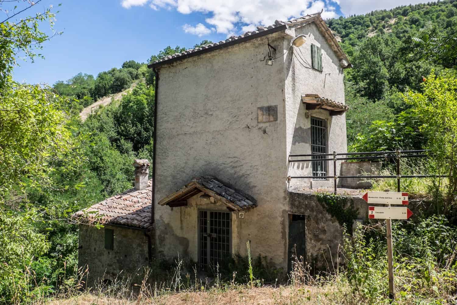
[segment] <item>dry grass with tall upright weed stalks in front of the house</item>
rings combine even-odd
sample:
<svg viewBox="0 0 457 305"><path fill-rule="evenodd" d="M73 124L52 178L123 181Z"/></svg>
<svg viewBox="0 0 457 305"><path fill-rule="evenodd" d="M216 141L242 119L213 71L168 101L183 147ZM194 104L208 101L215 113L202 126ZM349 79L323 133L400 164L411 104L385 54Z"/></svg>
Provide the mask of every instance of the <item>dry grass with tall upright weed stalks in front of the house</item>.
<svg viewBox="0 0 457 305"><path fill-rule="evenodd" d="M248 246L249 248L249 246ZM287 285L263 285L253 278L247 284L236 284L235 274L230 282L214 279L213 283L184 284L181 281L182 261L176 261L175 274L168 284L151 284L148 278L152 275L145 269L141 284L131 285L130 281L118 281L111 284L96 284L94 290L63 289L55 297L39 298L33 305L200 305L200 304L351 304L347 297L351 289L347 282L341 282L338 274L316 279L310 274L309 265L303 257L294 256L292 272ZM77 287L82 287L88 269L80 269Z"/></svg>

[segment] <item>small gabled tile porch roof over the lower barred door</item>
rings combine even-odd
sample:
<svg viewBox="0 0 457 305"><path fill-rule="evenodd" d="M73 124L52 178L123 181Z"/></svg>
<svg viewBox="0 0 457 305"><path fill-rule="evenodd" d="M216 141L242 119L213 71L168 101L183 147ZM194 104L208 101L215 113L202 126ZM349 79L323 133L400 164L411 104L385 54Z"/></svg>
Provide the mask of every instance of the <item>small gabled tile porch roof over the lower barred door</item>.
<svg viewBox="0 0 457 305"><path fill-rule="evenodd" d="M251 209L257 206L254 198L225 186L214 177L193 178L184 187L160 200L159 204L168 205L172 208L186 206L187 199L201 192L216 198L235 211Z"/></svg>

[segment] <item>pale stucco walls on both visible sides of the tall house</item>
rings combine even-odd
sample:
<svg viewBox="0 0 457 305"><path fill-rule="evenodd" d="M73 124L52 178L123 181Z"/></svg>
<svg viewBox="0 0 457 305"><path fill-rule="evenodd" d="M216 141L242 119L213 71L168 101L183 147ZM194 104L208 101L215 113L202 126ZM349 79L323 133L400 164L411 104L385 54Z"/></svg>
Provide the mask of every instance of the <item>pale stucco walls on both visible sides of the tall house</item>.
<svg viewBox="0 0 457 305"><path fill-rule="evenodd" d="M156 202L192 177L217 177L258 203L243 219L232 214L233 254L246 255L246 241L251 241L253 255L270 257L284 268L291 213L287 176L306 171L303 164L288 169L287 156L310 151L301 96L316 93L344 102L338 59L314 25L296 31L301 33L309 36L300 48L309 62L310 43L323 48L323 73L303 68L292 57L299 52L288 47L293 32L268 36L277 49L273 66L260 61L268 52L267 37L261 37L159 69ZM325 73L332 75L324 89ZM257 123L257 107L275 105L277 121ZM345 151L345 117L330 118L322 110L312 115L327 119L329 150ZM207 207L197 196L185 207L155 206L156 246L165 256L197 259L197 210ZM212 208L226 210L222 204ZM309 217L314 216L320 215Z"/></svg>

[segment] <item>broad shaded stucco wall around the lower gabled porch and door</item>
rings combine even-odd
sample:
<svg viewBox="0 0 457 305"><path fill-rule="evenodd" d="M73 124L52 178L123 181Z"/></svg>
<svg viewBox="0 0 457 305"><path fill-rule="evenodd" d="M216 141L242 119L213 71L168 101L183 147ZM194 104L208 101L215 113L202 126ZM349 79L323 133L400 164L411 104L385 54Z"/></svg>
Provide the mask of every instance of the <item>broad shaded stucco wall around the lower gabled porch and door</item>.
<svg viewBox="0 0 457 305"><path fill-rule="evenodd" d="M269 37L279 52L281 35ZM245 255L251 240L253 253L281 263L287 255L284 75L281 61L273 66L260 61L267 52L263 37L159 70L155 200L192 177L217 177L259 204L244 214L241 230L232 233L239 241L233 243L233 253ZM278 106L278 120L257 123L257 107L271 105ZM157 205L158 250L197 257L197 243L189 236L197 234L196 215L191 206Z"/></svg>

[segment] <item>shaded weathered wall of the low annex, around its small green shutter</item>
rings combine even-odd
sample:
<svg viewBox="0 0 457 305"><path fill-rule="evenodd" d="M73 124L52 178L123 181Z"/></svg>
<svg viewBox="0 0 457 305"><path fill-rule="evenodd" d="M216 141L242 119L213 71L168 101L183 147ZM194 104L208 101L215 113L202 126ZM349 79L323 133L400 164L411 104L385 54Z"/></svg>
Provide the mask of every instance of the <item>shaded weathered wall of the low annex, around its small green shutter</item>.
<svg viewBox="0 0 457 305"><path fill-rule="evenodd" d="M105 249L104 228L79 227L78 267L89 267L87 287L104 279L113 281L118 275L120 279L131 276L133 283L140 283L142 268L149 266L148 238L144 231L110 225L105 225L105 228L113 230L113 250Z"/></svg>

